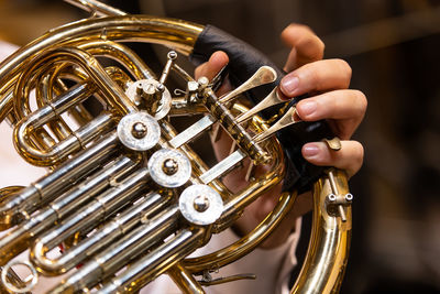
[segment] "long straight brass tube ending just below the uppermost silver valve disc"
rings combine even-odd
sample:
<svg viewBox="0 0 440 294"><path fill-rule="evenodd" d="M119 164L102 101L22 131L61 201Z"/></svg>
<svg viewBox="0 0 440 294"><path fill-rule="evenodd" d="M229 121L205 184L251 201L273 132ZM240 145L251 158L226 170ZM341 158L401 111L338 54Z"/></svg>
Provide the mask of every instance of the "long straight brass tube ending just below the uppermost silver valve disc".
<svg viewBox="0 0 440 294"><path fill-rule="evenodd" d="M94 197L94 195L108 186L113 178L129 173L136 164L129 157L118 159L111 166L103 171L98 171L81 183L79 187L73 187L72 190L63 194L46 208L41 209L30 220L15 227L0 239L0 264L3 265L15 254L22 252L24 246L28 247L30 244L31 238L37 237L43 230L52 227L55 221L59 221L66 215L78 209L90 197ZM57 231L57 238L63 238L59 231Z"/></svg>

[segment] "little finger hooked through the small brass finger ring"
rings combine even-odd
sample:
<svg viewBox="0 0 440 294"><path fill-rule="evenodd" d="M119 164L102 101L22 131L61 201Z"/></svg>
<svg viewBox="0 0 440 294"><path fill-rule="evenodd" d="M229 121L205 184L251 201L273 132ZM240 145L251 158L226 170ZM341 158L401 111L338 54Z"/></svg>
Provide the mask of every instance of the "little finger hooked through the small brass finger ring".
<svg viewBox="0 0 440 294"><path fill-rule="evenodd" d="M302 156L315 165L345 170L351 177L362 166L364 149L358 141L341 141L341 150L332 151L323 142L307 143L302 146Z"/></svg>

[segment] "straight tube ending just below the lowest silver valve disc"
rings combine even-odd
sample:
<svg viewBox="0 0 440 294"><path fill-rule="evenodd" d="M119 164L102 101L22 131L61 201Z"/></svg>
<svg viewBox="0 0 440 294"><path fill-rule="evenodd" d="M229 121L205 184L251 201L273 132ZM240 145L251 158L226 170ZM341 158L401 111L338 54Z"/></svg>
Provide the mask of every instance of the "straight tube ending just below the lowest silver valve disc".
<svg viewBox="0 0 440 294"><path fill-rule="evenodd" d="M204 229L183 229L170 240L130 264L125 271L99 290L101 294L131 293L141 290L157 275L193 252L204 238Z"/></svg>

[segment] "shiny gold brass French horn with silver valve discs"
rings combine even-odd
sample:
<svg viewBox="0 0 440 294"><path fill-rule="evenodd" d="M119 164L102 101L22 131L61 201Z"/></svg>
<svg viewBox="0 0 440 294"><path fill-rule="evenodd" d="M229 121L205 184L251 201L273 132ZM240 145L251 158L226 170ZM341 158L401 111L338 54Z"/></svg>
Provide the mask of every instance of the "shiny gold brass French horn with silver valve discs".
<svg viewBox="0 0 440 294"><path fill-rule="evenodd" d="M24 160L51 170L28 187L0 190L0 224L8 230L0 239L2 291L32 292L40 275L61 274L64 280L48 293L136 292L161 274L184 293L205 293L204 286L240 279L206 277L256 248L292 208L296 192L284 192L260 226L235 243L188 255L284 178L285 154L275 133L301 124L295 106L276 88L251 108L237 99L262 85L274 88L279 73L258 65L235 90L217 97L220 76L195 80L176 59L176 52L194 54L205 26L128 15L95 0L69 2L94 17L51 30L0 65L0 121L13 127ZM172 48L161 75L124 42ZM186 89L170 91L170 75ZM99 102L99 113L85 106L88 100ZM274 105L286 107L266 119L257 115ZM175 116L198 120L177 131ZM234 141L211 167L191 148L207 132ZM338 140L329 145L338 148ZM234 194L221 178L246 159L248 186ZM263 164L270 172L256 175ZM338 292L346 263L352 196L344 172L326 168L312 194L312 237L292 293ZM59 244L63 253L50 257ZM29 262L16 261L28 249ZM15 274L18 265L29 268L29 280Z"/></svg>

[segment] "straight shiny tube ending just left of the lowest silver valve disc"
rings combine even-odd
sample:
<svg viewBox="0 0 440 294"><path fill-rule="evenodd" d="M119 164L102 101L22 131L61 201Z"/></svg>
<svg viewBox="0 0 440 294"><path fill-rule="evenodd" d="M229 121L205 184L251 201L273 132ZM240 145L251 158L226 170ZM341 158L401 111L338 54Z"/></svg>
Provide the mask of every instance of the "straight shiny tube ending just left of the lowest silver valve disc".
<svg viewBox="0 0 440 294"><path fill-rule="evenodd" d="M127 265L132 259L146 252L162 238L169 236L176 229L178 217L177 206L164 209L152 219L145 220L146 224L136 227L122 239L92 257L81 269L70 274L48 293L82 293L84 288L94 287Z"/></svg>

